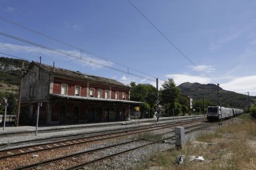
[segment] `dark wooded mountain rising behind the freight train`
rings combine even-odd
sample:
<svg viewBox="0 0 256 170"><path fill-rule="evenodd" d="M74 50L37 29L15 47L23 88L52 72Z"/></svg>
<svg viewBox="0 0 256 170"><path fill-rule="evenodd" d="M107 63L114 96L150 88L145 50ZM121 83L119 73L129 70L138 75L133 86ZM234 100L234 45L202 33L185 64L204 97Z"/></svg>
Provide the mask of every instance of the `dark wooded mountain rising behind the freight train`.
<svg viewBox="0 0 256 170"><path fill-rule="evenodd" d="M217 105L218 101L218 86L215 84L200 84L200 83L182 83L177 86L181 89L181 94L192 97L193 100L203 99L209 100L213 105ZM220 87L219 100L224 107L247 108L248 96L232 91L226 91ZM252 102L256 101L256 97L250 97Z"/></svg>

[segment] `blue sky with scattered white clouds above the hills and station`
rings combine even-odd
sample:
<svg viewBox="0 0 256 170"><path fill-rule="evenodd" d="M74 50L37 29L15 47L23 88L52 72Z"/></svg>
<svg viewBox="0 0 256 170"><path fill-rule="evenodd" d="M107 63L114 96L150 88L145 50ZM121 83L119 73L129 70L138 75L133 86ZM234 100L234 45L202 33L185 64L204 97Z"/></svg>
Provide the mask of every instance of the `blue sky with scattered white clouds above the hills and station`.
<svg viewBox="0 0 256 170"><path fill-rule="evenodd" d="M155 78L160 79L160 84L173 78L176 85L220 83L223 89L256 95L256 1L130 1L197 68L126 0L0 0L1 33L121 71L1 34L0 52L35 61L41 56L43 63L55 62L57 67L125 84L135 81L155 85ZM83 52L2 18L72 44Z"/></svg>

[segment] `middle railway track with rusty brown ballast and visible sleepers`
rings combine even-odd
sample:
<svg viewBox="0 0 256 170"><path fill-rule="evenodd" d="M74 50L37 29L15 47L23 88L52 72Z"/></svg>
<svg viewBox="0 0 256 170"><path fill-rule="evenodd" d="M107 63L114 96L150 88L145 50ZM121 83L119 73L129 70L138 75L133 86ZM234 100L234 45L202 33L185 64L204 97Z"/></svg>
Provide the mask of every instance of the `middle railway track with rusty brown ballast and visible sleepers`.
<svg viewBox="0 0 256 170"><path fill-rule="evenodd" d="M202 121L202 119L197 119L197 120L192 120L192 121L182 121L178 125L184 125L184 124L189 124L189 123L196 123L198 121ZM160 129L165 129L169 127L174 127L177 126L177 124L165 124L157 127L148 127L147 129L139 129L139 130L132 130L129 132L119 132L119 133L111 133L111 134L105 134L101 136L93 136L93 137L83 137L79 139L73 139L73 140L61 140L59 142L51 142L48 144L43 144L43 145L33 145L30 147L20 147L20 148L15 148L11 150L4 150L0 152L0 161L4 161L6 159L13 159L17 158L17 156L23 156L23 155L28 155L29 153L36 153L40 155L41 152L46 152L46 151L51 151L56 148L61 148L63 150L67 150L70 146L72 145L79 145L79 144L87 144L89 142L95 142L98 140L105 140L105 139L111 139L114 137L121 137L121 136L129 136L132 134L138 134L138 133L143 133L143 132L148 132L148 131L156 131ZM30 154L31 156L31 154ZM0 164L0 168L1 168Z"/></svg>

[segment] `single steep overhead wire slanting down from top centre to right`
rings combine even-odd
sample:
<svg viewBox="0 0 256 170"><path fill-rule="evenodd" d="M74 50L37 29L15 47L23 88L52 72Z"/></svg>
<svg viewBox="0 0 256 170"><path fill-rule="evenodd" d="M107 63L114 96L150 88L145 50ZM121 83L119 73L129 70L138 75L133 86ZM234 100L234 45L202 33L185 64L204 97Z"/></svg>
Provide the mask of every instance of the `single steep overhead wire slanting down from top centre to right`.
<svg viewBox="0 0 256 170"><path fill-rule="evenodd" d="M207 73L205 73L203 70L201 70L200 68L197 67L197 65L195 65L194 62L192 62L192 60L189 59L189 57L187 57L187 55L185 55L181 49L179 49L167 36L165 36L134 4L132 4L132 2L130 2L129 0L127 0L139 13L140 15L142 15L157 31L158 33L160 33L175 49L177 49L177 51L179 51L187 60L189 60L190 63L192 63L198 70L200 70L205 76L207 76L208 78L210 78L210 76L207 75ZM214 81L216 83L215 80L213 80L212 78L210 78L211 81ZM216 83L217 84L217 83Z"/></svg>

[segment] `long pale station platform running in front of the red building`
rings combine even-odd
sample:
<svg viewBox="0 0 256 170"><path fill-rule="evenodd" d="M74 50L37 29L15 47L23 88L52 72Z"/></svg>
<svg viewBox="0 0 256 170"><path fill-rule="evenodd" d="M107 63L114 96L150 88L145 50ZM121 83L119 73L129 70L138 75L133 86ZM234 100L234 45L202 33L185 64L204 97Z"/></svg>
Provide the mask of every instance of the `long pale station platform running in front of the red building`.
<svg viewBox="0 0 256 170"><path fill-rule="evenodd" d="M87 124L72 124L72 125L56 125L56 126L40 126L38 127L38 134L35 136L35 126L18 126L18 127L5 127L5 130L0 129L0 150L6 148L7 145L15 145L38 140L51 140L53 138L65 139L70 136L92 136L106 131L124 130L140 126L152 126L156 124L176 122L178 120L203 118L203 115L194 116L174 116L164 117L156 121L156 118L150 119L130 119L128 121L117 121L108 123L87 123ZM206 118L206 116L205 116Z"/></svg>

